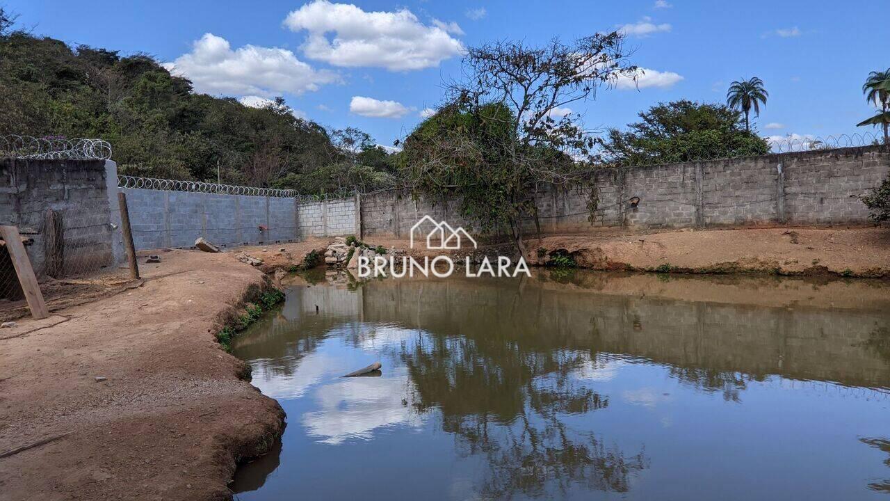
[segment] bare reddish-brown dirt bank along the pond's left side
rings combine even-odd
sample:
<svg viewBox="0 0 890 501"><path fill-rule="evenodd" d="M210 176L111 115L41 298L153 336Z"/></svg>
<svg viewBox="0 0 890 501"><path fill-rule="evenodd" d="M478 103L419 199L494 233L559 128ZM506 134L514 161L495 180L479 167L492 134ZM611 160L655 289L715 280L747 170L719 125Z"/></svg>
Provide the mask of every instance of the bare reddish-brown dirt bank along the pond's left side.
<svg viewBox="0 0 890 501"><path fill-rule="evenodd" d="M236 460L282 431L214 341L268 275L234 252L160 255L142 286L0 330L0 454L61 436L0 458L3 499L228 498Z"/></svg>

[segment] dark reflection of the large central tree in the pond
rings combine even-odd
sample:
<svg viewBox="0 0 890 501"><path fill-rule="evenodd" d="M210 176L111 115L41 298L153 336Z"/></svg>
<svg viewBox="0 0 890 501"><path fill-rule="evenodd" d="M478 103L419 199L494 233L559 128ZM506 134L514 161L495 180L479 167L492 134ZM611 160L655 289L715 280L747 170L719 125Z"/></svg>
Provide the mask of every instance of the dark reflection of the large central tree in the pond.
<svg viewBox="0 0 890 501"><path fill-rule="evenodd" d="M430 333L403 345L400 355L417 411L440 409L442 430L455 434L457 453L485 457L483 497L553 495L574 483L626 492L630 475L646 467L643 451L626 456L564 422L609 406L607 396L570 377L589 364L587 352Z"/></svg>

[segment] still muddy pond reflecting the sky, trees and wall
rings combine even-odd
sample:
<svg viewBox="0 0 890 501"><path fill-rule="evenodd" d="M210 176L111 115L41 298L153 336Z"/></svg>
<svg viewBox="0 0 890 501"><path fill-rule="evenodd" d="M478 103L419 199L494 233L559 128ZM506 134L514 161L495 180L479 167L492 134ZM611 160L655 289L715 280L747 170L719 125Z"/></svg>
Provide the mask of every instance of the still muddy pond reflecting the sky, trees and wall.
<svg viewBox="0 0 890 501"><path fill-rule="evenodd" d="M298 279L235 346L287 430L231 488L242 500L890 499L888 291L547 271ZM339 377L374 361L376 377Z"/></svg>

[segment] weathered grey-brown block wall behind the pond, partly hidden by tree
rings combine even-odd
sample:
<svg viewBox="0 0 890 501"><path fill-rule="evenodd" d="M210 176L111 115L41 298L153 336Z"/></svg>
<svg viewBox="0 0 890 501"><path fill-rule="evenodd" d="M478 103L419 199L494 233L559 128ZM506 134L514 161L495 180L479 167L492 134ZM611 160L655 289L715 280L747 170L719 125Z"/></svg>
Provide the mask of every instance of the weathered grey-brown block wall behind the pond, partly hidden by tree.
<svg viewBox="0 0 890 501"><path fill-rule="evenodd" d="M590 187L543 187L535 193L543 233L577 233L596 226L631 229L869 224L857 197L890 174L890 148L866 146L708 160L651 167L603 169ZM639 197L637 207L629 200ZM596 199L591 218L588 204ZM365 195L363 234L408 238L429 215L472 231L459 203L414 201L403 191ZM593 219L593 220L591 220ZM535 230L535 221L523 223Z"/></svg>

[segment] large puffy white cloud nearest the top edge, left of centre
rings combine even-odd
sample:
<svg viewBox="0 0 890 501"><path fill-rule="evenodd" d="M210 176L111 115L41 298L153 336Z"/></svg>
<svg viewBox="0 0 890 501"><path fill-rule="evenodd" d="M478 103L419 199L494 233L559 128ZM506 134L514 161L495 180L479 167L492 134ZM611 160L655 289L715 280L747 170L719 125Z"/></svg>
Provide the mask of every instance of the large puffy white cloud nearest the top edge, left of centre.
<svg viewBox="0 0 890 501"><path fill-rule="evenodd" d="M464 51L449 35L457 24L445 25L448 29L427 26L408 9L365 12L352 4L314 0L287 14L284 24L292 31L308 31L303 44L307 57L335 66L422 70ZM330 33L333 39L328 39Z"/></svg>

